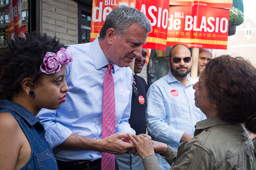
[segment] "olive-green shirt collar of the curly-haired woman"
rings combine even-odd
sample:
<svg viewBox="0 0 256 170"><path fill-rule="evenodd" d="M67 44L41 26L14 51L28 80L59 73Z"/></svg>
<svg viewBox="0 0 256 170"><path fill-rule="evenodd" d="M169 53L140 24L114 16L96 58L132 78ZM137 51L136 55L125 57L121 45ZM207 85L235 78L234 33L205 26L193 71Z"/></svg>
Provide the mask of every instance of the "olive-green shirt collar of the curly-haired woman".
<svg viewBox="0 0 256 170"><path fill-rule="evenodd" d="M216 126L216 125L228 125L227 123L220 119L219 116L214 116L209 119L202 120L196 123L196 129L206 129L208 127Z"/></svg>

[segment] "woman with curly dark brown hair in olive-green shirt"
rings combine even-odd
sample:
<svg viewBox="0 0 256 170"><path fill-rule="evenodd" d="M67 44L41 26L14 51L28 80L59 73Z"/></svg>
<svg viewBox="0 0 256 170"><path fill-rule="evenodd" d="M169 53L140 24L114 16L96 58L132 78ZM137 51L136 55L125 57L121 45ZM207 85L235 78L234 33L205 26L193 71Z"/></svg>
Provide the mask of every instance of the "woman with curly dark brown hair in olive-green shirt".
<svg viewBox="0 0 256 170"><path fill-rule="evenodd" d="M256 133L256 69L241 57L223 55L207 63L193 88L207 119L197 122L195 137L177 152L145 134L129 136L145 170L160 170L154 152L172 170L251 170L253 144L242 123Z"/></svg>

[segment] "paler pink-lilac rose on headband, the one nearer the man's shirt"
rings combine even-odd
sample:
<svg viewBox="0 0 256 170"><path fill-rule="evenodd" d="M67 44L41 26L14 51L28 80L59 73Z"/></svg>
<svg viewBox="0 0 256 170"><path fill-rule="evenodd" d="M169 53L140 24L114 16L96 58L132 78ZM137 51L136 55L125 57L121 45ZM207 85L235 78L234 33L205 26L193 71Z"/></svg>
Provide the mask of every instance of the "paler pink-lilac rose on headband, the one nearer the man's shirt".
<svg viewBox="0 0 256 170"><path fill-rule="evenodd" d="M61 48L56 52L56 57L59 59L61 65L67 65L69 62L73 61L72 51L68 48Z"/></svg>

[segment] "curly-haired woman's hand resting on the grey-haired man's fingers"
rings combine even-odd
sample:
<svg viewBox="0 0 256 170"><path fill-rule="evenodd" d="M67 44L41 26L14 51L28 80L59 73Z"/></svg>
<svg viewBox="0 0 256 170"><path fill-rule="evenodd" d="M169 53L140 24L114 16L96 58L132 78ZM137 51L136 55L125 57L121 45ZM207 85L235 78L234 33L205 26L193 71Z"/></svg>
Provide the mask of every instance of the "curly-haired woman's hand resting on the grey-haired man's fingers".
<svg viewBox="0 0 256 170"><path fill-rule="evenodd" d="M142 159L148 155L154 155L154 147L150 136L146 134L131 136L129 133L128 136Z"/></svg>

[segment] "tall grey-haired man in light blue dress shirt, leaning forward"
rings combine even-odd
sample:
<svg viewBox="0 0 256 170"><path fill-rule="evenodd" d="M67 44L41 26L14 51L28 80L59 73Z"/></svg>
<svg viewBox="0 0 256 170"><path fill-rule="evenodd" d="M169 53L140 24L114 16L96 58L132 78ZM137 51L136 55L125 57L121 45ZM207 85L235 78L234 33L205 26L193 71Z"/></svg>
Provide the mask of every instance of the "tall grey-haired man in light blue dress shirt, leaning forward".
<svg viewBox="0 0 256 170"><path fill-rule="evenodd" d="M135 134L128 124L133 79L129 65L141 56L149 31L151 23L145 14L119 6L106 18L98 38L68 47L73 62L66 71L66 102L58 110L42 109L37 116L59 169L98 170L102 152L123 154L134 147L121 140L128 137L127 132ZM102 139L103 80L109 63L113 64L116 134Z"/></svg>

